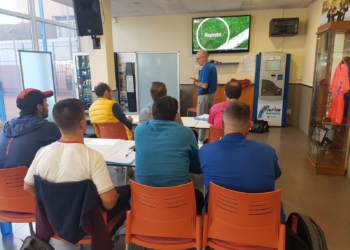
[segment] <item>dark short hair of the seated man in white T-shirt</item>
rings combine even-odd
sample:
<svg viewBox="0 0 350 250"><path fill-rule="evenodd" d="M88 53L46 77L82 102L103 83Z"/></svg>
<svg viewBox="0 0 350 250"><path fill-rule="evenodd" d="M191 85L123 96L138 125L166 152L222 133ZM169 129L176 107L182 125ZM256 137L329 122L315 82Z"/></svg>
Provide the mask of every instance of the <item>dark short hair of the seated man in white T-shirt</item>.
<svg viewBox="0 0 350 250"><path fill-rule="evenodd" d="M84 119L84 104L76 98L58 101L53 106L52 115L61 130L73 130Z"/></svg>

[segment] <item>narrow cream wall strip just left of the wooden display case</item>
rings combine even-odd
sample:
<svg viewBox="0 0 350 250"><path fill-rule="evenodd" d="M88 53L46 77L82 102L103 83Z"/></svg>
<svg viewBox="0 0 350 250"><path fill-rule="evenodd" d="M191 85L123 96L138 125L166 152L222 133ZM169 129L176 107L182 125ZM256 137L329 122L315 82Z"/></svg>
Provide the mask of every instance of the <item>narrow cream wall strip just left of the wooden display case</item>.
<svg viewBox="0 0 350 250"><path fill-rule="evenodd" d="M320 26L322 15L323 0L317 0L306 8L306 16L308 17L306 27L306 40L304 47L304 67L302 83L313 86L314 69L315 69L315 51L316 51L316 32Z"/></svg>

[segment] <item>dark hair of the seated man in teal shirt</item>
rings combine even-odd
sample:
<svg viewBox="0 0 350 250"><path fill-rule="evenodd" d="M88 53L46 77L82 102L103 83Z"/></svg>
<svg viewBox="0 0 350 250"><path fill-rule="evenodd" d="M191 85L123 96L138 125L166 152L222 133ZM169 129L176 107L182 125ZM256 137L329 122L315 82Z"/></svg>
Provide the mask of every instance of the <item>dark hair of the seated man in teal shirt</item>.
<svg viewBox="0 0 350 250"><path fill-rule="evenodd" d="M153 119L173 121L179 104L171 96L163 96L154 101L152 106Z"/></svg>

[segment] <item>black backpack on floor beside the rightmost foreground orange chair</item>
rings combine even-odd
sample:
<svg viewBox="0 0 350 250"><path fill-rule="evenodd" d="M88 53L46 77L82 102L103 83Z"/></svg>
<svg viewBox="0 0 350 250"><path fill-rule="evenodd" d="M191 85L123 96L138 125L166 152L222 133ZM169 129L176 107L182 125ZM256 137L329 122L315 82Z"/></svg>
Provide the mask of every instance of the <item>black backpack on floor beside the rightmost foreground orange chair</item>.
<svg viewBox="0 0 350 250"><path fill-rule="evenodd" d="M309 216L291 213L287 219L287 226L308 246L308 249L328 250L326 238L321 227Z"/></svg>

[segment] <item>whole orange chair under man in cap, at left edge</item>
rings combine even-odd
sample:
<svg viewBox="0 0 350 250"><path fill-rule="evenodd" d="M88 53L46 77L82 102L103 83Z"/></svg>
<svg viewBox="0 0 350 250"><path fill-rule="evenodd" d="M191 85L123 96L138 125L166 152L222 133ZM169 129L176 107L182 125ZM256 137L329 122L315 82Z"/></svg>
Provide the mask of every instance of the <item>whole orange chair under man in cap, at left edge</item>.
<svg viewBox="0 0 350 250"><path fill-rule="evenodd" d="M29 223L34 233L35 198L23 189L27 171L26 166L0 169L0 221Z"/></svg>

